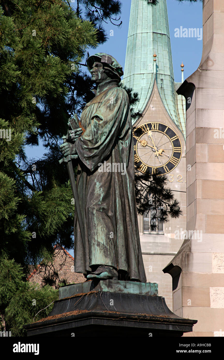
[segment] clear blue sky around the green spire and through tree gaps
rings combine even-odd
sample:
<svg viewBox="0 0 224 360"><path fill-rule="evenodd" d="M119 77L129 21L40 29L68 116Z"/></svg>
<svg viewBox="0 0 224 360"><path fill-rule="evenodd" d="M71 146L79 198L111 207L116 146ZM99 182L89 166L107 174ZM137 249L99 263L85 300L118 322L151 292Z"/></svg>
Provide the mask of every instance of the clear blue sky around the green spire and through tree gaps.
<svg viewBox="0 0 224 360"><path fill-rule="evenodd" d="M122 0L122 3L122 26L118 28L111 23L104 23L104 27L108 33L108 41L95 50L90 49L89 53L90 55L97 52L111 54L116 60L118 60L124 69L131 0ZM198 68L201 62L202 40L197 40L196 37L175 37L174 29L180 29L180 27L202 28L202 2L191 4L188 1L179 3L177 0L167 0L167 7L174 80L180 82L180 64L182 61L184 64L184 79L186 79ZM114 31L113 36L110 36L110 30ZM28 157L39 158L42 157L44 152L45 149L42 146L26 148ZM73 251L70 251L70 253L73 255Z"/></svg>

